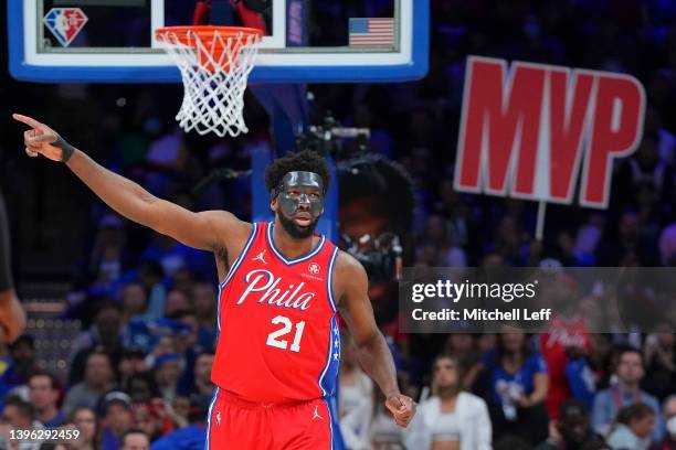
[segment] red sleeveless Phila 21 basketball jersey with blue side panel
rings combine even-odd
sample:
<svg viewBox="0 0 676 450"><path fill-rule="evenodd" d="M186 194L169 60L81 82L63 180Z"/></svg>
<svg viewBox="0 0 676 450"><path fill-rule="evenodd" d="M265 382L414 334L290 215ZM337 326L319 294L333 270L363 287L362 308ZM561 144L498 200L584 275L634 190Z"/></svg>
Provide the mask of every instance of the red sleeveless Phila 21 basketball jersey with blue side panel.
<svg viewBox="0 0 676 450"><path fill-rule="evenodd" d="M219 290L219 343L211 377L222 389L262 403L332 395L340 336L331 291L338 248L320 236L287 259L273 224L253 224L244 250Z"/></svg>

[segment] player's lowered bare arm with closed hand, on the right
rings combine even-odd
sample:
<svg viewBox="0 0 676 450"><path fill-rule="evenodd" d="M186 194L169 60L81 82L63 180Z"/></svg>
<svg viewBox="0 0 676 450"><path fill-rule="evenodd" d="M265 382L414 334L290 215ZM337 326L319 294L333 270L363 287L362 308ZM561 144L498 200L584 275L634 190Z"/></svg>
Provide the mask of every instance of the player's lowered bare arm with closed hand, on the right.
<svg viewBox="0 0 676 450"><path fill-rule="evenodd" d="M355 341L361 367L380 386L397 425L406 427L415 414L415 403L399 390L392 353L373 318L366 270L352 256L340 251L335 277L339 286L340 315Z"/></svg>

